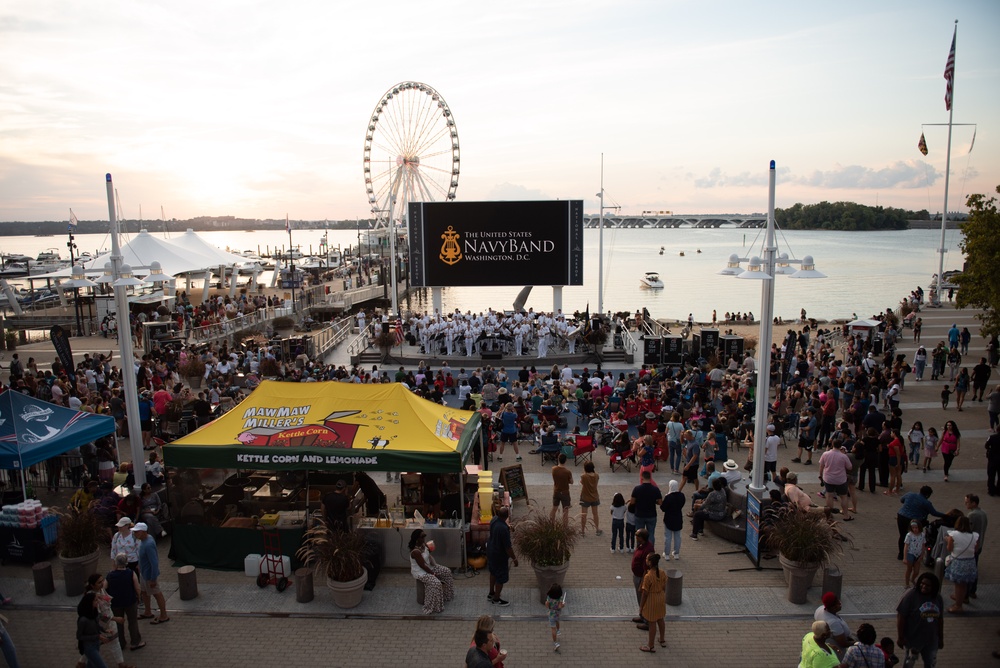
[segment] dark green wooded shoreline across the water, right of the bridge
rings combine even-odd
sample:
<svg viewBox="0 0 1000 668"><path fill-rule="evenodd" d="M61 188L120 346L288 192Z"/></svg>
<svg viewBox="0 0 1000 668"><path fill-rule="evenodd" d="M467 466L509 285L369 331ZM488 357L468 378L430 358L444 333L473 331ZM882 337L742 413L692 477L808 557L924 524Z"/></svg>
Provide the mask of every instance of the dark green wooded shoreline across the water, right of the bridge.
<svg viewBox="0 0 1000 668"><path fill-rule="evenodd" d="M910 220L930 220L930 213L854 202L796 204L775 209L774 220L783 230L905 230Z"/></svg>

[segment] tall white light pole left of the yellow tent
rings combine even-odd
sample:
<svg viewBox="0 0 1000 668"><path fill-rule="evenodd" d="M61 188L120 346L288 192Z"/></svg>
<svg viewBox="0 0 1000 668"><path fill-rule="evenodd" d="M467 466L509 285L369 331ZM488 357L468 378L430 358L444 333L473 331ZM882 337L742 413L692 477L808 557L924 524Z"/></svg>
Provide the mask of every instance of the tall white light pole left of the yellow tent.
<svg viewBox="0 0 1000 668"><path fill-rule="evenodd" d="M115 291L115 310L118 319L118 353L121 355L122 384L125 396L125 416L128 421L129 450L132 453L132 474L135 478L134 490L138 494L146 481L145 452L142 449L142 425L139 422L139 394L135 380L135 355L132 352L132 325L128 311L129 285L143 285L132 276L132 269L122 264L121 248L118 245L118 218L115 214L115 188L111 174L106 177L108 189L108 216L111 220L111 276Z"/></svg>

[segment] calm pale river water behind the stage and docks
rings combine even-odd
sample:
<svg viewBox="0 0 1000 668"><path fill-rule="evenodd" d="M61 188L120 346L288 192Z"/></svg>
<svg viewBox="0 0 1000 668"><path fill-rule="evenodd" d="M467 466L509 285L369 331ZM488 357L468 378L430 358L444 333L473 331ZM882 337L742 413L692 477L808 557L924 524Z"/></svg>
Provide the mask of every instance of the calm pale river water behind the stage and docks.
<svg viewBox="0 0 1000 668"><path fill-rule="evenodd" d="M177 230L176 236L183 230ZM354 230L328 230L331 247L354 246ZM759 237L758 237L759 233ZM318 251L322 230L293 230L293 241L303 253ZM280 230L253 232L203 232L201 235L220 248L239 252L266 251L286 247L288 235ZM604 306L606 310L635 311L646 307L654 317L686 318L693 313L698 321L711 320L712 309L721 319L726 311L760 312L760 282L719 276L733 254L760 254L763 231L736 228L605 230ZM363 239L363 237L362 237ZM110 246L107 235L77 235L81 251L95 253ZM563 309L583 310L589 304L597 310L598 230L585 233L584 277L582 286L563 289ZM948 230L945 270L960 269L958 249L961 233ZM797 318L805 308L810 317L846 318L852 313L868 316L895 307L918 285L928 290L931 275L937 272L939 230L893 232L790 231L779 237L779 253L793 257L812 255L816 268L827 274L822 280L793 280L781 277L775 285L775 315ZM664 252L660 255L660 247ZM35 257L47 248L67 256L65 237L0 237L5 253ZM376 249L377 250L377 249ZM700 253L698 251L701 251ZM684 253L682 257L680 253ZM647 271L659 272L665 288L640 287L639 278ZM443 290L445 310L509 309L525 277L510 277L514 285L497 288L455 287ZM429 308L430 291L420 290L409 300L418 310ZM535 288L527 302L535 310L552 308L552 291ZM407 307L404 302L403 308Z"/></svg>

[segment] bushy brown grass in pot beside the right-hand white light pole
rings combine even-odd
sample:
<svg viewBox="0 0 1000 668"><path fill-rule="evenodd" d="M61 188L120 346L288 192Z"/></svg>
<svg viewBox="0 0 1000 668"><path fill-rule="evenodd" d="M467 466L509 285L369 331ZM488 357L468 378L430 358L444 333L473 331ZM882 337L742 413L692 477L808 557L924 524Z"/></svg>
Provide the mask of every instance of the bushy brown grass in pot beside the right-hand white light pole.
<svg viewBox="0 0 1000 668"><path fill-rule="evenodd" d="M791 603L805 603L816 571L844 551L844 539L825 513L803 512L794 505L778 512L762 538L767 547L778 552Z"/></svg>

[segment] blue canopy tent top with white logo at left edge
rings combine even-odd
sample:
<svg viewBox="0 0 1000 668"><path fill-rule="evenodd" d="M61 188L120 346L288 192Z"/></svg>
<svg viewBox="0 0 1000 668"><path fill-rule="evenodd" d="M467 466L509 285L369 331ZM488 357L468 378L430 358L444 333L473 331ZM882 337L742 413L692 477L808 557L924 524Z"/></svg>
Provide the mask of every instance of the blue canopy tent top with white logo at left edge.
<svg viewBox="0 0 1000 668"><path fill-rule="evenodd" d="M21 471L49 457L113 434L110 415L75 411L20 392L0 394L0 469Z"/></svg>

